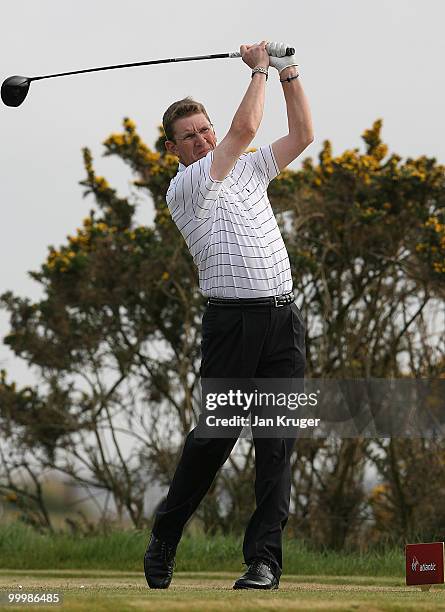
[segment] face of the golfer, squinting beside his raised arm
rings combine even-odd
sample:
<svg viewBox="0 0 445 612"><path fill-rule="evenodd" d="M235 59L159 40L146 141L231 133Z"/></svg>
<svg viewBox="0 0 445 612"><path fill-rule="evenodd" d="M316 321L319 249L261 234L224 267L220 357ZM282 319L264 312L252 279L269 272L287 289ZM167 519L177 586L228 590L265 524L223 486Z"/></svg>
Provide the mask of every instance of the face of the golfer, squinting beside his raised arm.
<svg viewBox="0 0 445 612"><path fill-rule="evenodd" d="M177 119L173 132L175 138L167 140L165 148L177 155L184 166L190 166L216 147L215 132L203 113Z"/></svg>

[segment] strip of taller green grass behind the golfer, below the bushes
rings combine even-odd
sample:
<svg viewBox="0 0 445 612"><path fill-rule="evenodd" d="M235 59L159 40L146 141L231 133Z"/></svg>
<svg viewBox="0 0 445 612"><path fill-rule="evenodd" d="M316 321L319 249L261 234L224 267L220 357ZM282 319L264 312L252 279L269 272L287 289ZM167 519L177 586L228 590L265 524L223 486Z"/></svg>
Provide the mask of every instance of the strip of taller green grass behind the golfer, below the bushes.
<svg viewBox="0 0 445 612"><path fill-rule="evenodd" d="M0 525L0 568L141 571L149 533L41 535L21 523ZM185 536L177 554L181 572L240 572L242 541L233 536ZM404 576L402 549L383 552L315 552L297 540L285 540L286 574L325 576Z"/></svg>

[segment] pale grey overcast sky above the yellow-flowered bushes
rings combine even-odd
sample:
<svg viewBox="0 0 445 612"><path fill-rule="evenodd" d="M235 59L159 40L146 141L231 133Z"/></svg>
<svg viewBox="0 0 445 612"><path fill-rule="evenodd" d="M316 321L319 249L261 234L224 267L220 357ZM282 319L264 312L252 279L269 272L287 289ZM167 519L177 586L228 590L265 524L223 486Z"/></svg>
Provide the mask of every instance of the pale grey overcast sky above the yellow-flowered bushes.
<svg viewBox="0 0 445 612"><path fill-rule="evenodd" d="M296 48L313 113L316 156L323 140L334 153L361 145L381 117L383 137L403 157L445 163L445 3L439 0L283 0L178 2L142 0L3 0L0 80L168 57L236 51L261 39ZM0 108L0 292L38 299L28 270L50 244L73 233L93 206L82 199L81 149L95 167L130 193L131 174L103 159L102 141L131 117L149 146L163 111L193 95L204 102L222 138L248 86L240 59L139 67L33 83L19 108ZM253 145L286 129L276 74L267 84L262 126ZM292 167L298 168L300 160ZM137 218L149 223L148 199ZM0 335L8 330L0 313ZM4 346L0 368L20 384L31 372Z"/></svg>

